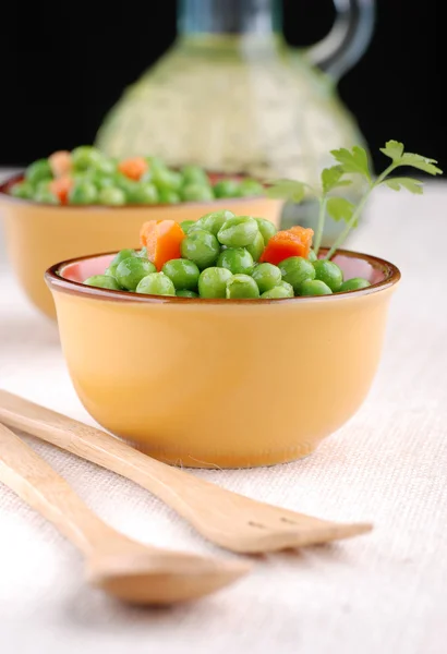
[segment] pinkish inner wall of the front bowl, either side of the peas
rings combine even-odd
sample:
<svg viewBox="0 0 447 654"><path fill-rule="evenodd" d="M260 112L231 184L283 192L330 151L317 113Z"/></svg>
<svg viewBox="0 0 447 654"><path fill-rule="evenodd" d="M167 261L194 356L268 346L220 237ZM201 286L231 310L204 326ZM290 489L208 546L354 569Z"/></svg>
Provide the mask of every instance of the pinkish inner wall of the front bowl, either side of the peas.
<svg viewBox="0 0 447 654"><path fill-rule="evenodd" d="M69 281L83 282L93 275L104 275L113 256L113 254L101 254L71 262L59 269L59 275ZM384 266L373 265L366 258L353 254L338 254L333 261L342 269L345 279L363 277L373 284L384 281L390 275Z"/></svg>

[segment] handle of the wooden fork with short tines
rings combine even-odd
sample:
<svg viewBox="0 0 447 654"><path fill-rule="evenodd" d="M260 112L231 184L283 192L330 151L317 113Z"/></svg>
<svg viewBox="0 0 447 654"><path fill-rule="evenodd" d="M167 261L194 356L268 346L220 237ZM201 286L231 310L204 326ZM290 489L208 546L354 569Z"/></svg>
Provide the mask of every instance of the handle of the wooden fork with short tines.
<svg viewBox="0 0 447 654"><path fill-rule="evenodd" d="M0 421L140 484L195 523L189 498L208 483L156 461L118 438L0 390Z"/></svg>

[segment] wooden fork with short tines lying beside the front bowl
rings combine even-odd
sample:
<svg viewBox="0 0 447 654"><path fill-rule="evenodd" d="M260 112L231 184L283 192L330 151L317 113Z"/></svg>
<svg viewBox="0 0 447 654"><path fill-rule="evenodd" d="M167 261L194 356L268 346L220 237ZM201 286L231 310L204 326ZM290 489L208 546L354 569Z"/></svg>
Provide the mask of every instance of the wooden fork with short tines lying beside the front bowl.
<svg viewBox="0 0 447 654"><path fill-rule="evenodd" d="M0 421L150 491L205 538L240 553L264 553L349 538L370 523L329 522L220 488L161 463L113 436L0 390Z"/></svg>

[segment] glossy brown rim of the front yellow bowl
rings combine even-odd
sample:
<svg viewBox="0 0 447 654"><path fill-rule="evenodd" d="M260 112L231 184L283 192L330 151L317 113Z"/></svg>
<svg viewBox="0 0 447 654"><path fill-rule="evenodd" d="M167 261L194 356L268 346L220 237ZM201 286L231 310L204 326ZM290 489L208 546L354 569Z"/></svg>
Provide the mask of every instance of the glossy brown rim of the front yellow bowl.
<svg viewBox="0 0 447 654"><path fill-rule="evenodd" d="M322 247L321 252L327 252L327 247ZM114 291L112 289L100 289L97 287L85 286L80 281L72 281L61 276L60 271L63 268L72 264L76 264L86 259L94 259L102 256L110 256L117 254L117 252L104 252L100 254L90 254L86 256L76 256L64 262L60 262L50 266L45 272L45 281L51 291L60 291L72 295L87 296L96 300L111 300L113 302L123 303L146 303L146 304L198 304L201 306L208 306L212 304L221 304L225 306L231 306L233 304L249 304L258 305L257 302L249 299L234 299L227 300L220 298L178 298L177 295L149 295L143 293L135 293L133 291ZM396 286L401 278L400 270L397 266L383 259L378 256L371 254L363 254L351 250L337 250L336 254L347 256L350 258L358 258L370 264L374 269L379 269L385 274L385 279L376 283L371 284L364 289L357 289L354 291L343 291L341 293L334 293L331 295L306 295L298 298L276 298L269 300L263 300L262 305L271 303L291 304L294 302L334 302L340 298L370 295L377 293Z"/></svg>

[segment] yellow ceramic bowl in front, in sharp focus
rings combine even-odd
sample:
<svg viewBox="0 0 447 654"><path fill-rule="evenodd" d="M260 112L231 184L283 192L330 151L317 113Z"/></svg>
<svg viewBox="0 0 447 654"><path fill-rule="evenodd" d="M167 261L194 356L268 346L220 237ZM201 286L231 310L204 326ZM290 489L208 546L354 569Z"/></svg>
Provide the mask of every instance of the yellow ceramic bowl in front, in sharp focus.
<svg viewBox="0 0 447 654"><path fill-rule="evenodd" d="M367 289L287 300L201 300L83 286L112 255L47 271L69 371L107 429L162 461L242 468L312 452L363 402L399 270L342 252Z"/></svg>

